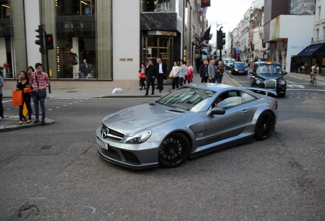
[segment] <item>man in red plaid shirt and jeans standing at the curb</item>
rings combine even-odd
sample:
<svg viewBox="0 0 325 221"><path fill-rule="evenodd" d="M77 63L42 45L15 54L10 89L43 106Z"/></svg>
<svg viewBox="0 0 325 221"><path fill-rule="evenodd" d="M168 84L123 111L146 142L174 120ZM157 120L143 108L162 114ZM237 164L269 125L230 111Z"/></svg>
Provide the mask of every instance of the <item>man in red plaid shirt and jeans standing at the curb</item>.
<svg viewBox="0 0 325 221"><path fill-rule="evenodd" d="M50 79L47 73L42 72L42 64L35 64L36 71L31 74L29 79L29 86L33 85L33 101L35 106L35 118L34 123L39 122L38 114L38 102L42 110L41 125L45 125L45 97L39 97L38 92L45 89L50 85ZM37 80L36 80L37 77Z"/></svg>

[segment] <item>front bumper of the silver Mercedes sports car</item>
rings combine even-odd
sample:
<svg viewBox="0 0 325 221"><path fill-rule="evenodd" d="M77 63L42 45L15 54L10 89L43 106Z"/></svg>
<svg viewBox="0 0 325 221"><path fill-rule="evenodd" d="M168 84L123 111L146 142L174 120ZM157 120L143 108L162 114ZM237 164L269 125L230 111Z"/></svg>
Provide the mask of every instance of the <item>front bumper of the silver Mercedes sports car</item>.
<svg viewBox="0 0 325 221"><path fill-rule="evenodd" d="M108 148L104 149L97 143L97 150L105 160L132 169L145 169L158 166L158 142L142 144L124 144L107 141L102 138L100 127L96 130L97 139Z"/></svg>

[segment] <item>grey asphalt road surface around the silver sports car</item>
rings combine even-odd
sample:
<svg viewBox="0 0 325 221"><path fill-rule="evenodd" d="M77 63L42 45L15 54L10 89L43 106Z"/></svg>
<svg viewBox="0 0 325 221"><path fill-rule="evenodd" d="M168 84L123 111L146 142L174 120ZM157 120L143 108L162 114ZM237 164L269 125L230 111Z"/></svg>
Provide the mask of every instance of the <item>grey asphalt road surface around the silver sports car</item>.
<svg viewBox="0 0 325 221"><path fill-rule="evenodd" d="M95 130L150 99L48 99L54 124L0 134L0 219L324 220L325 95L290 93L268 140L146 170L103 160Z"/></svg>

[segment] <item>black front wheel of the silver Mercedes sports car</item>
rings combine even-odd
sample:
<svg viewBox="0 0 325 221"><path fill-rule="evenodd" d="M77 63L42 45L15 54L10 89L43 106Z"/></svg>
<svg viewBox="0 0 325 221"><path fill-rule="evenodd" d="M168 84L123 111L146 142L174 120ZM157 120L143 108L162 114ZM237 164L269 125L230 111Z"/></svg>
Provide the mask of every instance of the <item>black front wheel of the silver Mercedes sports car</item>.
<svg viewBox="0 0 325 221"><path fill-rule="evenodd" d="M169 135L159 148L159 166L177 167L181 165L191 152L190 142L180 132Z"/></svg>

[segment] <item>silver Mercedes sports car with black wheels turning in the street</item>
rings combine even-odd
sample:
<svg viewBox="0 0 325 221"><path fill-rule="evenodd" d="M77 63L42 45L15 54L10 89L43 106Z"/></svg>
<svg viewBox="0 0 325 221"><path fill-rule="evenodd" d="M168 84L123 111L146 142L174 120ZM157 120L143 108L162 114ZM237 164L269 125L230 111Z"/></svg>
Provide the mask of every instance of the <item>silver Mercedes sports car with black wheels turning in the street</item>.
<svg viewBox="0 0 325 221"><path fill-rule="evenodd" d="M97 129L98 151L129 168L176 167L203 153L265 140L275 128L277 101L248 89L188 84L155 102L122 109Z"/></svg>

